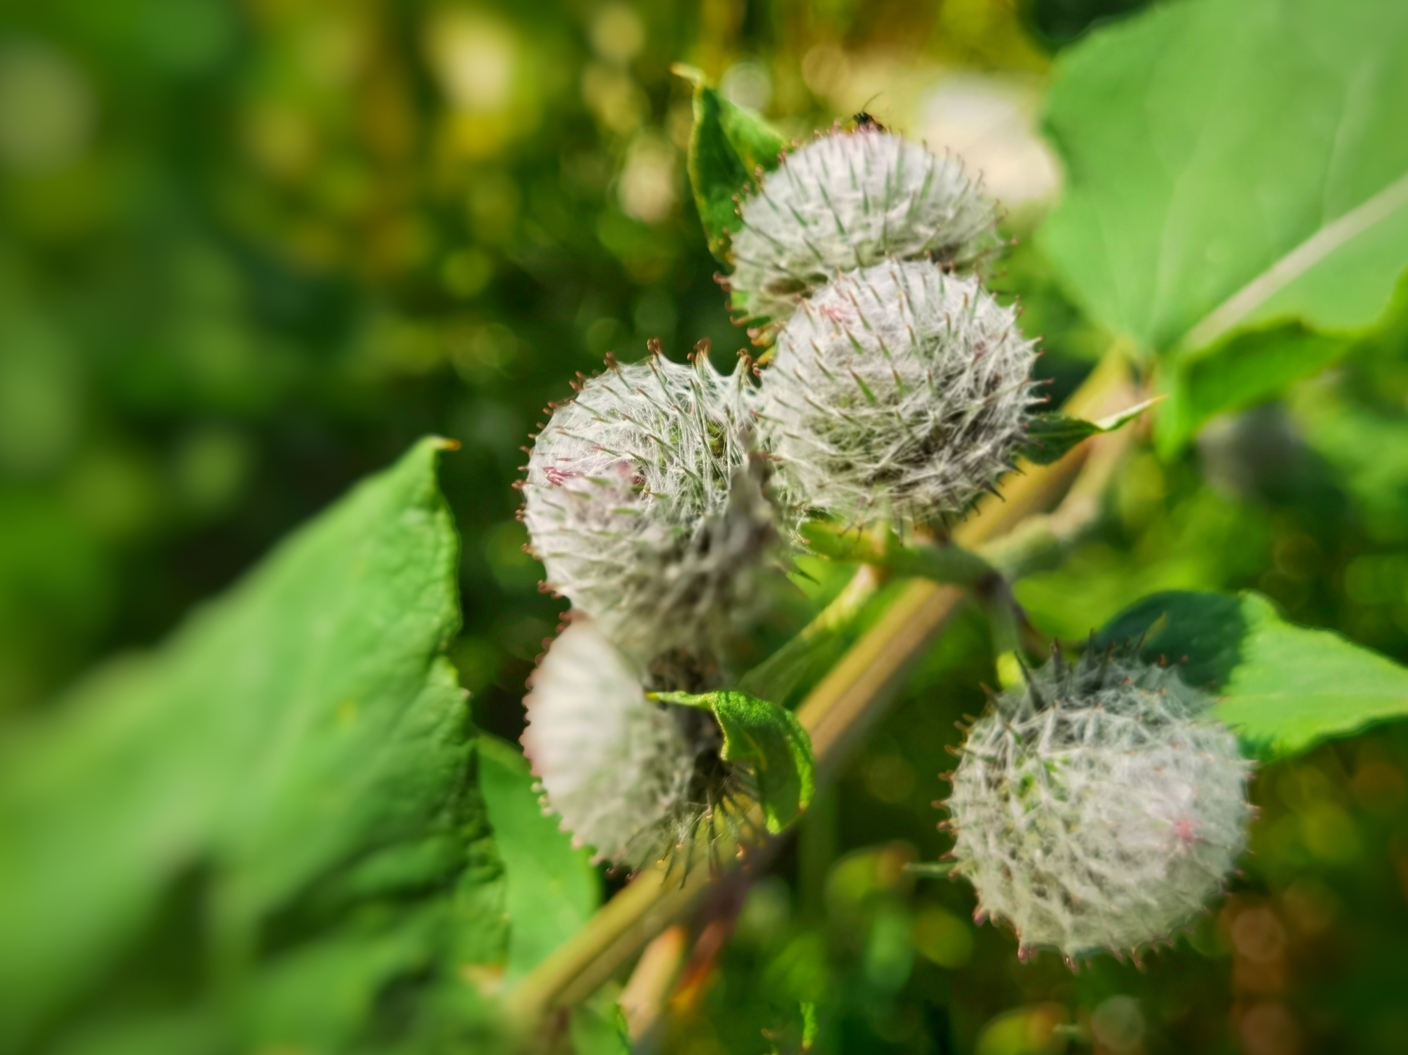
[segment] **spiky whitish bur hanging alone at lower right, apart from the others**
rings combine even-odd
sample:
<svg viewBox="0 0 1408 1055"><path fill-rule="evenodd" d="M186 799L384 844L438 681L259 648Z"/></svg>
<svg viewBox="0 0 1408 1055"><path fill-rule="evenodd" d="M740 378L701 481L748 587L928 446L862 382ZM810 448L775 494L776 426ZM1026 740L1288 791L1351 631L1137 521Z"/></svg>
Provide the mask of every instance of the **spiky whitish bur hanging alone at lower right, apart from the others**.
<svg viewBox="0 0 1408 1055"><path fill-rule="evenodd" d="M1246 845L1249 764L1173 670L1057 654L973 726L953 774L953 871L1024 954L1167 938Z"/></svg>

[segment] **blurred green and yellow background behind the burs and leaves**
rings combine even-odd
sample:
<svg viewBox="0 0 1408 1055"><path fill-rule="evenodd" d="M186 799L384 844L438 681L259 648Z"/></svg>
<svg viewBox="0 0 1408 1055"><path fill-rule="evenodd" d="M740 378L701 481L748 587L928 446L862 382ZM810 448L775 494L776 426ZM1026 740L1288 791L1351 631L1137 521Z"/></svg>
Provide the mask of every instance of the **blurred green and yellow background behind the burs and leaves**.
<svg viewBox="0 0 1408 1055"><path fill-rule="evenodd" d="M866 108L986 173L1012 235L1059 194L1050 58L1131 0L49 0L0 6L0 720L158 641L415 437L463 449L452 658L521 729L560 602L511 488L541 408L605 352L746 343L686 190L691 62L804 136ZM1059 397L1105 338L1019 241L997 284ZM1408 660L1408 336L1284 402L1140 454L1101 536L1019 596L1076 637L1162 588L1253 587ZM929 657L759 885L670 1049L1408 1049L1408 736L1259 778L1235 895L1145 973L1018 965L942 848L981 620Z"/></svg>

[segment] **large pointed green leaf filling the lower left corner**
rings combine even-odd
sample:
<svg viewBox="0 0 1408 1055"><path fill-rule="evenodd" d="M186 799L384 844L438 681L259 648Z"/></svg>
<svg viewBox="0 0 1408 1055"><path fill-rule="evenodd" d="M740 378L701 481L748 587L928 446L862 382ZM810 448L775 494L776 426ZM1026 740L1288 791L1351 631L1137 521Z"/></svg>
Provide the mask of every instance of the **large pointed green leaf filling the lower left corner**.
<svg viewBox="0 0 1408 1055"><path fill-rule="evenodd" d="M0 1049L199 1051L170 1025L190 1016L221 1048L344 1048L391 992L458 1031L462 971L503 957L503 869L441 656L459 625L442 446L7 738Z"/></svg>

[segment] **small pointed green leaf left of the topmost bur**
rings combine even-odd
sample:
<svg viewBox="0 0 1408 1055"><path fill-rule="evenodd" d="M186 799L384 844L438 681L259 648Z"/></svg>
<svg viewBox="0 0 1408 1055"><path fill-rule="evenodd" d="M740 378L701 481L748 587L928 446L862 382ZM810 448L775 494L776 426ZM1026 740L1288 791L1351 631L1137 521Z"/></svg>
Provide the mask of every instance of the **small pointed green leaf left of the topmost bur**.
<svg viewBox="0 0 1408 1055"><path fill-rule="evenodd" d="M738 231L738 197L753 190L759 169L777 167L787 139L750 110L736 107L693 66L674 73L694 86L694 131L690 134L690 186L704 224L708 249L728 263L728 236Z"/></svg>

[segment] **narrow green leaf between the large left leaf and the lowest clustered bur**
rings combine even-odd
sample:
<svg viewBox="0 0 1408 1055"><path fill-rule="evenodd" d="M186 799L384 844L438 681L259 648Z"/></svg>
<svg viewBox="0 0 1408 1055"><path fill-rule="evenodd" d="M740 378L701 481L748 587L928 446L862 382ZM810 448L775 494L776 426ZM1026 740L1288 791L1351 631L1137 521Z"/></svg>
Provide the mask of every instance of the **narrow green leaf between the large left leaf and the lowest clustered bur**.
<svg viewBox="0 0 1408 1055"><path fill-rule="evenodd" d="M591 854L576 850L558 817L543 813L524 757L480 734L479 788L504 862L508 961L513 983L572 937L601 903Z"/></svg>

